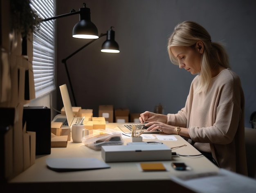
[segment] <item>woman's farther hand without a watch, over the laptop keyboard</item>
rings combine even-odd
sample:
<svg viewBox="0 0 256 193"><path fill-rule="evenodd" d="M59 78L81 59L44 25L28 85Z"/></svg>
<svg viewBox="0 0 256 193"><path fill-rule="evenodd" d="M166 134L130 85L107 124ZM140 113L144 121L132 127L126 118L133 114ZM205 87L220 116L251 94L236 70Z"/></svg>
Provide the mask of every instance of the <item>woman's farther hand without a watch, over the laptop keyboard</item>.
<svg viewBox="0 0 256 193"><path fill-rule="evenodd" d="M165 114L158 114L150 111L145 111L140 114L139 121L141 123L157 121L167 123L167 116Z"/></svg>

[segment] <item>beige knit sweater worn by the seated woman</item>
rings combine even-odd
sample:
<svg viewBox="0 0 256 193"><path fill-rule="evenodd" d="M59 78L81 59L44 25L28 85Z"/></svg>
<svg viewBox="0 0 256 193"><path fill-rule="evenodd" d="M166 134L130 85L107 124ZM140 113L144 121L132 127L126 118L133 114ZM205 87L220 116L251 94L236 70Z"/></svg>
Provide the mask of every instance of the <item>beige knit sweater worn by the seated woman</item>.
<svg viewBox="0 0 256 193"><path fill-rule="evenodd" d="M189 128L195 142L229 144L236 134L244 105L239 77L223 70L213 78L209 92L195 93L199 75L190 87L185 107L176 114L167 114L167 124Z"/></svg>

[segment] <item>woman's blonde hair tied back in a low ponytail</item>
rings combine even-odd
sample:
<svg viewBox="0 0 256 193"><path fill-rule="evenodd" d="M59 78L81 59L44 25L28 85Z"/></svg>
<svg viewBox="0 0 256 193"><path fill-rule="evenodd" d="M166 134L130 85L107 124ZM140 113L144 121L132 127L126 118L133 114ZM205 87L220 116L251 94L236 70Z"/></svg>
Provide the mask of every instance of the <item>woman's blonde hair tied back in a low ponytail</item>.
<svg viewBox="0 0 256 193"><path fill-rule="evenodd" d="M200 83L196 91L207 90L211 86L211 66L210 60L225 68L230 68L228 54L221 43L211 42L211 36L204 27L196 22L184 21L176 25L173 33L168 40L168 54L173 64L179 65L177 58L173 56L171 47L186 46L195 48L195 44L202 41L204 44L204 52L201 59Z"/></svg>

